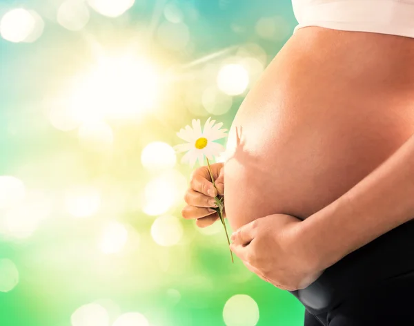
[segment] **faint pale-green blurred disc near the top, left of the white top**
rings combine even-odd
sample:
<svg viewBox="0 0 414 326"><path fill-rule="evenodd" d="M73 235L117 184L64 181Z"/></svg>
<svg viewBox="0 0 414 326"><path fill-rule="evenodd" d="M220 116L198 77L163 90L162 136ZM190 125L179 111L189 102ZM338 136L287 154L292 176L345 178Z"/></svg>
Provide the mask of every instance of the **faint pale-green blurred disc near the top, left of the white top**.
<svg viewBox="0 0 414 326"><path fill-rule="evenodd" d="M185 23L164 21L158 28L157 37L161 44L171 50L181 50L190 41L190 30Z"/></svg>

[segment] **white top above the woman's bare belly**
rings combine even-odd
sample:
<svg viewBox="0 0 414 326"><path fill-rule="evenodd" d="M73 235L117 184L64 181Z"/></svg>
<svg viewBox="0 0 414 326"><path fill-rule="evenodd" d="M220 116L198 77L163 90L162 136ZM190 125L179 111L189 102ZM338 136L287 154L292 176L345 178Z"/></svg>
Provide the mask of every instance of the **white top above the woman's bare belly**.
<svg viewBox="0 0 414 326"><path fill-rule="evenodd" d="M414 0L292 0L299 25L414 37Z"/></svg>

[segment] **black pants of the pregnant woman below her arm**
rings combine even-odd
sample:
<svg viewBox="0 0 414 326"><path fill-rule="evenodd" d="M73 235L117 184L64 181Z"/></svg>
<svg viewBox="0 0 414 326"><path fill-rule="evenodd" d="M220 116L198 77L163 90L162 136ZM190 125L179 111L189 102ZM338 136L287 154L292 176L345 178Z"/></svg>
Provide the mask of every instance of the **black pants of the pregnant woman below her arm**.
<svg viewBox="0 0 414 326"><path fill-rule="evenodd" d="M414 326L414 220L290 292L306 308L305 326Z"/></svg>

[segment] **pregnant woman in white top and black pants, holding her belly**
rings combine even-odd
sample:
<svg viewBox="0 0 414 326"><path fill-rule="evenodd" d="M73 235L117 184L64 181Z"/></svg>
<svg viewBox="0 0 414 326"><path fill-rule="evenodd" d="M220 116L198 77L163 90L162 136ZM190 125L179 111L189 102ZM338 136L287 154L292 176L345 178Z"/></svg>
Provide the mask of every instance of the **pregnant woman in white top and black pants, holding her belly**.
<svg viewBox="0 0 414 326"><path fill-rule="evenodd" d="M230 247L306 326L414 325L414 0L293 7L212 166ZM200 227L217 220L208 189L201 167L182 212Z"/></svg>

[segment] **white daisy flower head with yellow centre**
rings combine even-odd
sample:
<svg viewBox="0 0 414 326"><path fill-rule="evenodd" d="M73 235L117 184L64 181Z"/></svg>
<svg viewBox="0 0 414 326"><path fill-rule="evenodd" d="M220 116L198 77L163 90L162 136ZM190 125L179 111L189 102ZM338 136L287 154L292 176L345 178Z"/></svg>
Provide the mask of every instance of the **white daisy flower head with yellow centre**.
<svg viewBox="0 0 414 326"><path fill-rule="evenodd" d="M204 155L209 160L213 160L219 156L220 153L225 151L224 146L217 144L214 141L219 140L227 136L227 129L220 129L223 123L215 124L215 120L210 121L209 117L204 124L204 131L201 131L201 122L199 119L193 119L193 128L186 126L181 129L177 136L182 140L185 140L187 144L180 144L174 146L176 153L186 152L187 153L181 158L181 163L188 162L193 167L197 159L199 164L204 164Z"/></svg>

